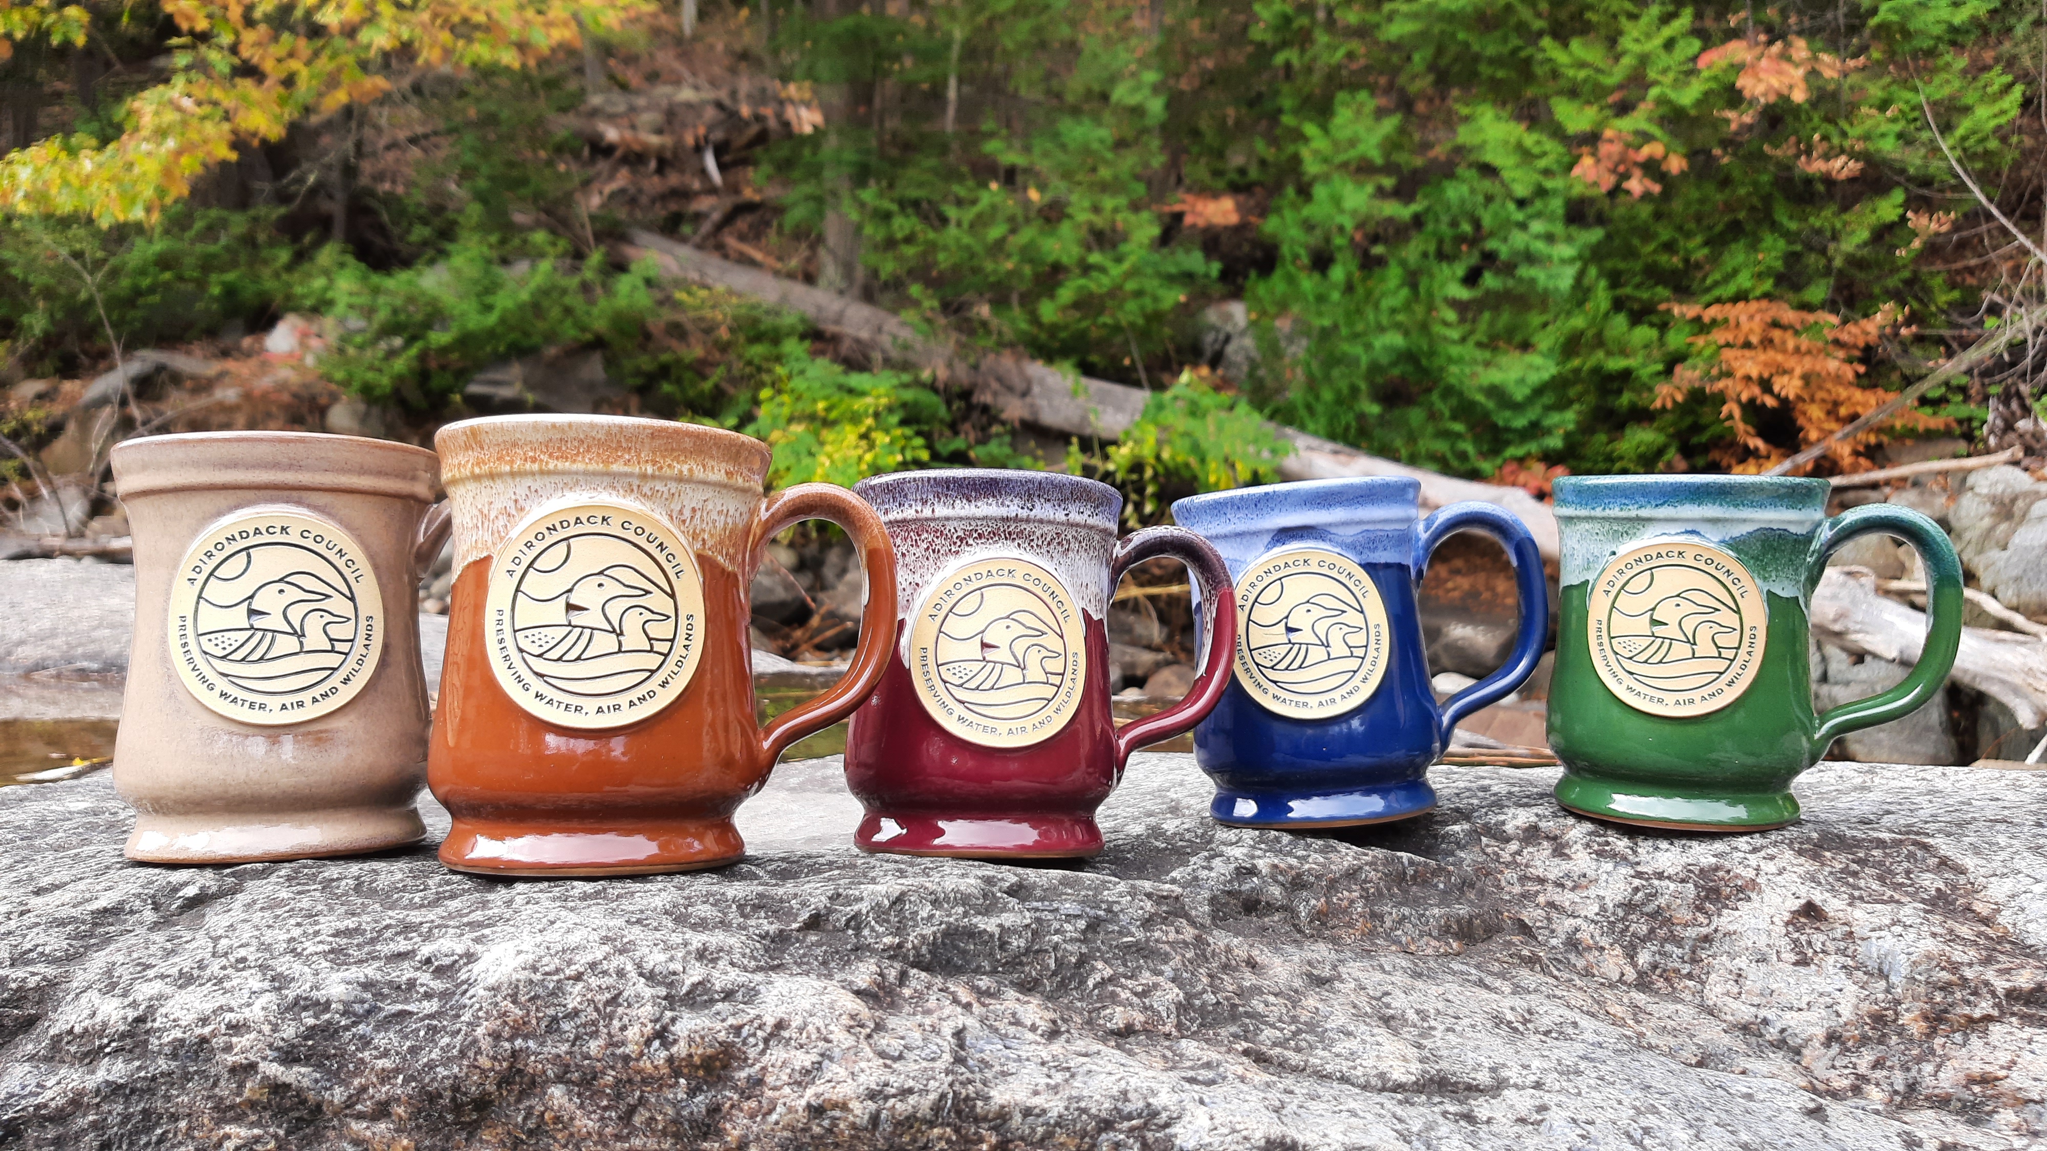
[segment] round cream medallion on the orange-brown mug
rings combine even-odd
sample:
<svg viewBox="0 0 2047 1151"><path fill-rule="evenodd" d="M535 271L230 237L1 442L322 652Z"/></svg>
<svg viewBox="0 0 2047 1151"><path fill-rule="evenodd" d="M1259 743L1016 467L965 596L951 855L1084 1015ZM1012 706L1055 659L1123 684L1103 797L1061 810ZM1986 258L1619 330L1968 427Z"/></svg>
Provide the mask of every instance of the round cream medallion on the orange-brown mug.
<svg viewBox="0 0 2047 1151"><path fill-rule="evenodd" d="M690 686L704 580L688 545L635 504L540 508L491 557L483 643L497 686L557 727L639 723Z"/></svg>

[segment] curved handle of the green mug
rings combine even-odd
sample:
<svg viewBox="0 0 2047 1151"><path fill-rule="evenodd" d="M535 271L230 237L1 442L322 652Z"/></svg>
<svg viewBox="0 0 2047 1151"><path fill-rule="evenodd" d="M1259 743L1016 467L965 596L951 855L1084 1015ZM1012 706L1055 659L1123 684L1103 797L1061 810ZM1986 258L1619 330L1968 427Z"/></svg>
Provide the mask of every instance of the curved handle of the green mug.
<svg viewBox="0 0 2047 1151"><path fill-rule="evenodd" d="M1808 559L1808 594L1820 584L1830 551L1871 532L1904 537L1912 551L1918 551L1920 563L1926 567L1926 606L1932 608L1932 623L1926 625L1926 643L1920 645L1918 664L1912 666L1912 674L1904 682L1887 692L1848 700L1820 717L1820 727L1812 737L1814 760L1826 756L1834 739L1850 731L1889 723L1924 707L1947 682L1947 674L1955 668L1955 649L1961 645L1961 557L1955 555L1955 545L1949 543L1941 524L1912 508L1863 504L1822 524Z"/></svg>

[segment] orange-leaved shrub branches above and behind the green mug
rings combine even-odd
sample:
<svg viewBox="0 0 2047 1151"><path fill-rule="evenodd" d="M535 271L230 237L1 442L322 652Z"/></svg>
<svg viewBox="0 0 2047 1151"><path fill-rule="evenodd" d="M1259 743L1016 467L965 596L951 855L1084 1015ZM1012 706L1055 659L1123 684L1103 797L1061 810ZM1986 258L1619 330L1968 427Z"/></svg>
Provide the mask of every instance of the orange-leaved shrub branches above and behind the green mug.
<svg viewBox="0 0 2047 1151"><path fill-rule="evenodd" d="M1885 303L1875 315L1842 324L1830 311L1797 311L1775 299L1744 303L1666 303L1683 319L1703 319L1711 326L1691 344L1711 346L1717 356L1703 369L1679 365L1670 383L1656 385L1654 408L1674 408L1693 389L1722 397L1719 418L1734 432L1732 442L1713 449L1713 461L1736 473L1756 473L1787 455L1824 440L1848 422L1867 416L1891 399L1893 391L1867 387L1869 371L1863 354L1877 344L1883 330L1904 313ZM1900 336L1910 334L1906 328ZM1799 442L1773 444L1756 430L1758 408L1789 408ZM1900 412L1885 430L1939 430L1953 420ZM1883 430L1869 430L1828 446L1826 457L1840 473L1873 467L1867 453L1885 442Z"/></svg>

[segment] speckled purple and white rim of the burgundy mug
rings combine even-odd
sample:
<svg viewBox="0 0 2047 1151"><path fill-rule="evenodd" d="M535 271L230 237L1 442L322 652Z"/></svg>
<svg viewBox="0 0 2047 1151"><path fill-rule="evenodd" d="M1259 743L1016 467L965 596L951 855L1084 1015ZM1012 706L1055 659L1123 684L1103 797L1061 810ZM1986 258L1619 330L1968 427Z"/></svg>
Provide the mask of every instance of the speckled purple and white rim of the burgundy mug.
<svg viewBox="0 0 2047 1151"><path fill-rule="evenodd" d="M1007 467L890 471L854 483L854 496L890 522L954 520L962 514L987 520L1040 520L1056 510L1069 520L1099 522L1114 532L1124 514L1122 492L1107 483L1060 471ZM954 508L927 512L933 502L948 502ZM958 504L972 504L972 510L962 512Z"/></svg>

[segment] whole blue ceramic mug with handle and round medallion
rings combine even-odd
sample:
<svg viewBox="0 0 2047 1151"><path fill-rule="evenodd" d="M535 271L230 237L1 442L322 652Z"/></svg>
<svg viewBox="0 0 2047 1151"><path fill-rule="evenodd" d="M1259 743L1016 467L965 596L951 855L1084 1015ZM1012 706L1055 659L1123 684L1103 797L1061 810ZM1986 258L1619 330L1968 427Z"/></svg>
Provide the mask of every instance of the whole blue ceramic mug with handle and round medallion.
<svg viewBox="0 0 2047 1151"><path fill-rule="evenodd" d="M1527 526L1492 504L1451 504L1423 520L1419 496L1414 479L1365 477L1173 504L1236 586L1234 674L1193 729L1218 821L1343 827L1421 815L1435 807L1429 764L1449 731L1535 670L1550 590ZM1521 633L1507 666L1437 707L1414 590L1437 545L1466 528L1507 547Z"/></svg>

